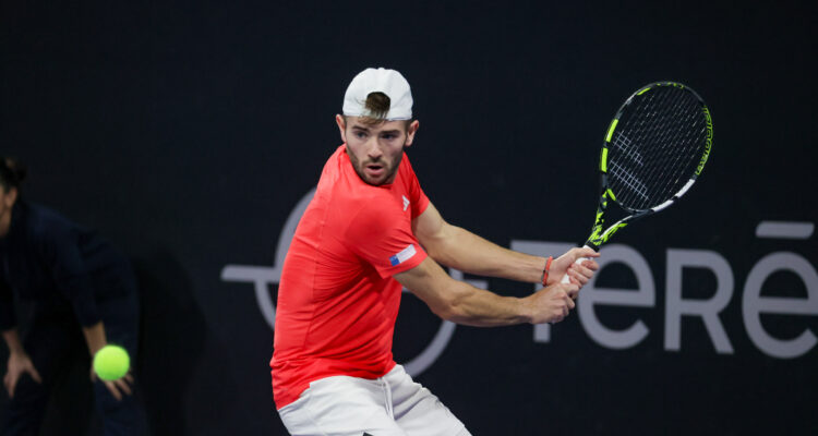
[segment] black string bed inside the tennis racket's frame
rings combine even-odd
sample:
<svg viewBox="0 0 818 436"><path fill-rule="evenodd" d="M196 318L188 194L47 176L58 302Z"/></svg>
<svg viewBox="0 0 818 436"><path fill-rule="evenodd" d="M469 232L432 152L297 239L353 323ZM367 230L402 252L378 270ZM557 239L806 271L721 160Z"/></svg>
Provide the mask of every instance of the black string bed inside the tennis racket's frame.
<svg viewBox="0 0 818 436"><path fill-rule="evenodd" d="M700 100L659 86L623 109L609 146L609 183L617 202L648 209L670 199L694 174L707 125Z"/></svg>

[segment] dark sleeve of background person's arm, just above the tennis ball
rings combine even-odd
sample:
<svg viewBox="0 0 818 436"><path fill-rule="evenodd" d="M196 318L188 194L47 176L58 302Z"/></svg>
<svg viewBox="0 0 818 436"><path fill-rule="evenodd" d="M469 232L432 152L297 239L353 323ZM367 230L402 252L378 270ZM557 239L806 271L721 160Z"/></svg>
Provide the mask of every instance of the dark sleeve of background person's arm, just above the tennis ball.
<svg viewBox="0 0 818 436"><path fill-rule="evenodd" d="M49 225L44 229L40 252L57 289L71 301L80 325L89 327L99 323L93 281L80 252L79 233L61 222Z"/></svg>

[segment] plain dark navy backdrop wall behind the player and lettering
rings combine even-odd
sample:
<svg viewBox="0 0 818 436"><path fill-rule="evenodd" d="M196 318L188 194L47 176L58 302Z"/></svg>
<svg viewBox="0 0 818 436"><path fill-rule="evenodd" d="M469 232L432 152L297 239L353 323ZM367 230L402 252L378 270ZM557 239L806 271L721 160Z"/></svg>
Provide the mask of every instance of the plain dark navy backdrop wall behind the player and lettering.
<svg viewBox="0 0 818 436"><path fill-rule="evenodd" d="M815 348L790 359L765 352L748 334L743 291L771 253L818 266L815 235L756 238L761 221L818 218L808 158L818 144L817 9L4 2L0 154L28 164L29 199L99 229L133 258L153 434L284 435L270 399L270 313L252 282L222 274L276 265L288 216L339 144L333 117L357 72L406 75L421 122L409 155L426 194L448 221L505 246L585 238L616 108L649 82L684 82L711 107L711 160L678 206L616 239L648 263L654 302L588 313L615 330L641 322L647 336L614 349L577 314L548 342L531 326L457 327L418 379L474 435L815 434ZM727 263L732 286L684 268L682 288L698 300L729 288L719 320L732 352L717 352L695 316L683 317L679 349L669 349L666 265L679 249ZM805 308L761 315L766 331L782 340L818 331L818 294L807 304L818 279L770 277L763 295L799 298ZM622 264L599 278L635 283ZM274 298L275 283L265 291ZM407 295L397 359L416 356L437 327ZM59 401L58 411L69 407Z"/></svg>

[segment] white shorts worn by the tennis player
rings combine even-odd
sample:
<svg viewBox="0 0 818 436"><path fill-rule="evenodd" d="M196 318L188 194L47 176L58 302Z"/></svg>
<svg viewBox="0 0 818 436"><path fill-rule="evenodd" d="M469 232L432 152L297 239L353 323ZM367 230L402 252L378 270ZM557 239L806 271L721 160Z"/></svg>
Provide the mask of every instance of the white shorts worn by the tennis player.
<svg viewBox="0 0 818 436"><path fill-rule="evenodd" d="M292 436L471 436L400 365L376 379L315 380L278 414Z"/></svg>

